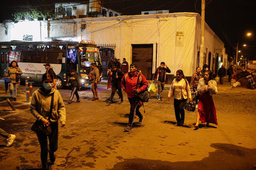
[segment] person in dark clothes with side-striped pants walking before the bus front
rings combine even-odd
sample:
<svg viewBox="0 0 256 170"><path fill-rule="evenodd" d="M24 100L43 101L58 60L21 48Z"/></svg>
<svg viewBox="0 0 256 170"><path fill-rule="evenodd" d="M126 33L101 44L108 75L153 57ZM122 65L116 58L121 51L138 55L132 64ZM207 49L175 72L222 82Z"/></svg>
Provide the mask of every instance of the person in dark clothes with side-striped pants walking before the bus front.
<svg viewBox="0 0 256 170"><path fill-rule="evenodd" d="M79 88L79 90L81 89L81 81L78 77L78 75L76 74L76 71L74 69L71 70L71 77L69 77L69 80L67 82L67 86L70 83L71 84L71 95L69 100L67 101L67 103L71 104L72 103L72 99L74 97L74 95L76 95L76 103L80 102L80 97L78 95L78 91L77 89Z"/></svg>

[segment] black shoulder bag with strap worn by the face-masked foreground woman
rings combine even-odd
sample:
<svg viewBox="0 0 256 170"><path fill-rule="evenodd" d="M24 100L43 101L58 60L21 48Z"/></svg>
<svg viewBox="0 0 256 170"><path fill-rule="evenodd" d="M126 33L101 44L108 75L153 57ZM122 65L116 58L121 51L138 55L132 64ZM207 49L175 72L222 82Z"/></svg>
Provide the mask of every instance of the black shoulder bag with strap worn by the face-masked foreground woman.
<svg viewBox="0 0 256 170"><path fill-rule="evenodd" d="M50 115L49 119L52 117L53 101L54 101L54 93L51 96L51 105L50 105L50 113L51 113L51 115ZM36 122L32 125L31 130L33 132L36 132L36 133L42 132L44 135L49 135L49 134L52 133L52 128L50 127L50 125L45 127L42 124L42 122L38 121L38 120L36 120Z"/></svg>

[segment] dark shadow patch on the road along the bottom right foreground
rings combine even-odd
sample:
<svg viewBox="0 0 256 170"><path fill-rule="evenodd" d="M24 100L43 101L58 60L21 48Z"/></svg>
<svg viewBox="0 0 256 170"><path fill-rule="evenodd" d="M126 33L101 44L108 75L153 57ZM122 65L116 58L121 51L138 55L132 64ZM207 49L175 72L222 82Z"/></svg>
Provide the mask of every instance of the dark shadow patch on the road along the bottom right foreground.
<svg viewBox="0 0 256 170"><path fill-rule="evenodd" d="M256 149L226 143L213 143L210 146L216 150L209 152L209 156L202 160L169 162L124 158L124 161L115 164L112 170L248 170L256 168Z"/></svg>

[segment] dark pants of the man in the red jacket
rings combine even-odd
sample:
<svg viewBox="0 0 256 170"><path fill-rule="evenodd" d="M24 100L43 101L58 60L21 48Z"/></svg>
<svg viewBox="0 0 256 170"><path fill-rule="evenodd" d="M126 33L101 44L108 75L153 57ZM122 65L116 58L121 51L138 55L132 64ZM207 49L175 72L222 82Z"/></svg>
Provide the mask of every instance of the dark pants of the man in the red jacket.
<svg viewBox="0 0 256 170"><path fill-rule="evenodd" d="M129 102L130 102L130 115L129 115L129 125L132 126L132 123L134 121L134 117L135 114L141 119L142 118L142 114L139 111L138 108L138 104L140 102L140 98L139 97L132 97L132 98L128 98Z"/></svg>

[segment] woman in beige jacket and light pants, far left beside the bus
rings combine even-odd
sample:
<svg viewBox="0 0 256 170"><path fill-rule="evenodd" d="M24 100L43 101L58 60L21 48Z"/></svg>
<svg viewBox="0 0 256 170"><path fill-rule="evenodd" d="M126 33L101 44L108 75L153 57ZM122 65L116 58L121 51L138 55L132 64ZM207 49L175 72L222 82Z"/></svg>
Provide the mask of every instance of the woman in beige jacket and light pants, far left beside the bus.
<svg viewBox="0 0 256 170"><path fill-rule="evenodd" d="M6 73L6 76L12 79L12 82L10 83L10 95L11 95L10 101L12 100L16 101L16 95L17 95L18 85L20 81L20 79L17 77L17 74L22 75L22 71L18 66L18 63L16 61L12 61Z"/></svg>

